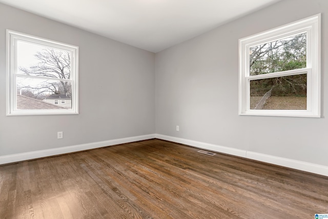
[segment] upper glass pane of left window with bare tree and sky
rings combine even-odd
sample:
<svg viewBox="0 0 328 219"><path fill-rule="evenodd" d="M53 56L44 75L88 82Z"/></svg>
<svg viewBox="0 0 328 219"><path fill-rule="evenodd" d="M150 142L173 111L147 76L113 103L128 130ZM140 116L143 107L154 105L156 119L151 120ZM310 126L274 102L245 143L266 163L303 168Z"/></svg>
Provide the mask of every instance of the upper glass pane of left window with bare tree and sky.
<svg viewBox="0 0 328 219"><path fill-rule="evenodd" d="M70 79L70 64L70 51L17 42L18 74Z"/></svg>

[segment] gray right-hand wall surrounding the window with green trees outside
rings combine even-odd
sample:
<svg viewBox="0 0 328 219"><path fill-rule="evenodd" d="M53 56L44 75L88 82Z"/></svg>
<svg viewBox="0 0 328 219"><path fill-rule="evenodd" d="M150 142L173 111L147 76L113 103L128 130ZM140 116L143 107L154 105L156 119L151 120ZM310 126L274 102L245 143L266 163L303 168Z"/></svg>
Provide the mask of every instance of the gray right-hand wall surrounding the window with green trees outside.
<svg viewBox="0 0 328 219"><path fill-rule="evenodd" d="M318 13L321 118L239 116L238 39ZM328 1L283 0L156 53L156 133L328 166L327 26Z"/></svg>

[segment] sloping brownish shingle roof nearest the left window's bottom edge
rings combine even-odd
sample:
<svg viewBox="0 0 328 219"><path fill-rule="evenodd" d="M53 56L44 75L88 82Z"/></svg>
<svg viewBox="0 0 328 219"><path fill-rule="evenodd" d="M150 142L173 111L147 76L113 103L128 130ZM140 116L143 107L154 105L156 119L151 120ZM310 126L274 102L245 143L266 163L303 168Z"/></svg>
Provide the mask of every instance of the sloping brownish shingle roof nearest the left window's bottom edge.
<svg viewBox="0 0 328 219"><path fill-rule="evenodd" d="M66 109L38 99L17 94L17 109Z"/></svg>

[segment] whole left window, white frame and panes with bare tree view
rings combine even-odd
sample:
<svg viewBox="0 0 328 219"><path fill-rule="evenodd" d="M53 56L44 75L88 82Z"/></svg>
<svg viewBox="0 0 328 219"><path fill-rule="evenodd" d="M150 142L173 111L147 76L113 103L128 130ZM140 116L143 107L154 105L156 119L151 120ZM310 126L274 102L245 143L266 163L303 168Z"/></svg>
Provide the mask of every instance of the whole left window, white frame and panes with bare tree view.
<svg viewBox="0 0 328 219"><path fill-rule="evenodd" d="M7 58L7 115L78 114L78 47L7 30Z"/></svg>

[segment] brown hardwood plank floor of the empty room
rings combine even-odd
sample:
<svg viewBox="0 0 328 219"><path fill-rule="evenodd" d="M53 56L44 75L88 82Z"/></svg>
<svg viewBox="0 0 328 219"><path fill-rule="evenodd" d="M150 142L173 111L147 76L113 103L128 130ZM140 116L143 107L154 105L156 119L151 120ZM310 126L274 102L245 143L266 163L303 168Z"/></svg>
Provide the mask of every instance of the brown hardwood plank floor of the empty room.
<svg viewBox="0 0 328 219"><path fill-rule="evenodd" d="M0 218L314 218L328 177L148 140L0 166Z"/></svg>

